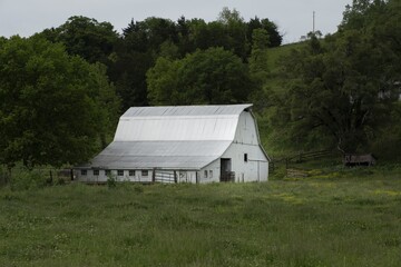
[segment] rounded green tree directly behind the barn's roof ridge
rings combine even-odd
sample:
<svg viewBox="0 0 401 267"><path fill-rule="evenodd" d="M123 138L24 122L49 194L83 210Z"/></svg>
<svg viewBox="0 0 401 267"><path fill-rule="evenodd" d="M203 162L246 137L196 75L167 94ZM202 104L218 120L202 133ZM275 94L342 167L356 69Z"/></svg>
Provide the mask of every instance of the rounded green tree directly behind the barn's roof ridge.
<svg viewBox="0 0 401 267"><path fill-rule="evenodd" d="M151 105L243 102L252 89L245 65L222 48L175 61L159 58L147 77Z"/></svg>

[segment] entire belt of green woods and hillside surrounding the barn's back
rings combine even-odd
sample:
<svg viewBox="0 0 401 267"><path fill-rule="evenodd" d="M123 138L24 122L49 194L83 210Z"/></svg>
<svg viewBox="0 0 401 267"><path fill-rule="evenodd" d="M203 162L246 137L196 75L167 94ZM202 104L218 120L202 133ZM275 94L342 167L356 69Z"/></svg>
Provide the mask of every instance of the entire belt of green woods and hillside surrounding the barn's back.
<svg viewBox="0 0 401 267"><path fill-rule="evenodd" d="M400 20L400 0L354 0L338 32L285 46L270 19L228 8L211 22L149 17L118 33L75 16L0 37L0 164L84 162L129 107L242 102L254 103L273 158L333 149L399 160Z"/></svg>

